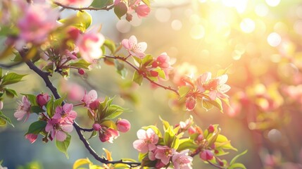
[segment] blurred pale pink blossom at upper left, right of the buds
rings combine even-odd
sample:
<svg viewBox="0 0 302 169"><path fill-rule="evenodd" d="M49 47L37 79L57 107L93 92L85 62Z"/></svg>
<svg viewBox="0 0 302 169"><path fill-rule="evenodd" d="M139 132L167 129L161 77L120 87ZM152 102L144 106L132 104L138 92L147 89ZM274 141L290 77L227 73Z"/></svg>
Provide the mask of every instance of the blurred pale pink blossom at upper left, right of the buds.
<svg viewBox="0 0 302 169"><path fill-rule="evenodd" d="M79 47L82 58L89 63L93 63L95 59L100 58L103 54L101 50L103 42L105 42L105 37L94 28L79 35L75 45Z"/></svg>

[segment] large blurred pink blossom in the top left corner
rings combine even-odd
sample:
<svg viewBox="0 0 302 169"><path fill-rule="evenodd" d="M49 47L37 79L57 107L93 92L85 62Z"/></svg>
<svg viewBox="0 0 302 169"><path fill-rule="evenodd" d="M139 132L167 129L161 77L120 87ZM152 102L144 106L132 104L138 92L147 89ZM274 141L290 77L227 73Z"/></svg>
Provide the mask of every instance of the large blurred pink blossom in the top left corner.
<svg viewBox="0 0 302 169"><path fill-rule="evenodd" d="M58 25L56 22L58 15L58 11L44 4L28 6L17 24L20 29L20 39L34 44L44 42L49 32Z"/></svg>

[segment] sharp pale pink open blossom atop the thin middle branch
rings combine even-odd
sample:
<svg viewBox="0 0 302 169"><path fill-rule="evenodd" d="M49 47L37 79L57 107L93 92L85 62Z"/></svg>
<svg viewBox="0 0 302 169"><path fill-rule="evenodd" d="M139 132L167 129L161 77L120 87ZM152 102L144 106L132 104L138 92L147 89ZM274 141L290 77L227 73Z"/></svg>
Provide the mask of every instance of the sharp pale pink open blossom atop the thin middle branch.
<svg viewBox="0 0 302 169"><path fill-rule="evenodd" d="M122 40L122 46L129 51L132 56L136 56L137 58L144 58L146 54L147 44L146 42L139 42L137 43L137 37L132 35L129 39Z"/></svg>

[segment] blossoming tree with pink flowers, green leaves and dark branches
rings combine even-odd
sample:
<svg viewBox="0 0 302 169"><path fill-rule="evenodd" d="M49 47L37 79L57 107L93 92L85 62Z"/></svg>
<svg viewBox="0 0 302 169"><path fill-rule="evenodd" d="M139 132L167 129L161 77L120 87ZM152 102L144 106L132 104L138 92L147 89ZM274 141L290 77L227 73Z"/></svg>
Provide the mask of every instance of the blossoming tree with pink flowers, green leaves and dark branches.
<svg viewBox="0 0 302 169"><path fill-rule="evenodd" d="M131 21L132 15L144 18L149 15L149 0L94 0L88 7L86 0L4 0L1 1L0 35L6 38L1 51L0 68L0 110L6 106L6 99L20 96L13 114L18 121L26 123L36 114L37 120L28 125L25 138L31 143L42 138L42 142L56 142L56 147L68 157L68 146L76 131L84 147L99 163L92 163L88 158L75 161L73 168L89 165L89 168L198 168L193 162L204 161L216 168L245 168L237 163L235 156L227 161L221 156L229 150L235 150L230 141L222 135L219 125L210 125L201 129L194 125L192 117L178 124L170 125L161 119L163 130L154 124L147 124L137 131L137 139L133 147L139 152L137 159L121 159L113 161L111 153L105 149L106 156L99 156L89 145L89 139L99 137L100 142L113 143L120 132L130 130L130 122L118 118L125 108L113 104L113 99L98 99L96 90L86 91L82 88L70 89L59 93L52 83L52 75L73 78L73 71L79 75L89 73L100 62L114 65L118 74L125 78L127 68L134 70L132 81L139 85L143 80L156 87L169 90L177 97L177 101L193 111L197 103L203 108L215 106L223 111L222 105L229 106L227 92L227 70L220 70L216 77L210 72L196 78L182 75L180 82L165 86L172 64L167 53L160 56L145 54L146 42L138 42L132 35L121 42L106 39L101 27L92 26L92 16L87 11L113 10L118 18L125 17ZM63 10L77 11L76 15L61 18ZM124 49L124 50L122 50ZM126 51L126 52L125 52ZM10 84L20 82L25 75L6 73L6 68L13 68L25 63L32 73L39 75L51 93L18 94L18 89L8 88ZM83 112L73 110L75 106L84 108L90 127L81 127L77 115ZM7 123L13 126L7 112L0 111L0 125ZM91 133L85 138L83 132ZM131 144L130 144L131 145ZM113 144L114 146L114 144ZM198 156L194 158L195 156Z"/></svg>

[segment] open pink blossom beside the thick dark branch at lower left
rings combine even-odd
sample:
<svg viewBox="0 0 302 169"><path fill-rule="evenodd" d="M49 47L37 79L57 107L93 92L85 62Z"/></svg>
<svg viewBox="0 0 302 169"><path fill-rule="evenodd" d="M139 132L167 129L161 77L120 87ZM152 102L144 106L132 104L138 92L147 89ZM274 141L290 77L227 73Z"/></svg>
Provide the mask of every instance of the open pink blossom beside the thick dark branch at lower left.
<svg viewBox="0 0 302 169"><path fill-rule="evenodd" d="M77 118L77 112L73 111L73 104L64 104L56 107L56 113L54 113L53 118L73 123L73 120Z"/></svg>

